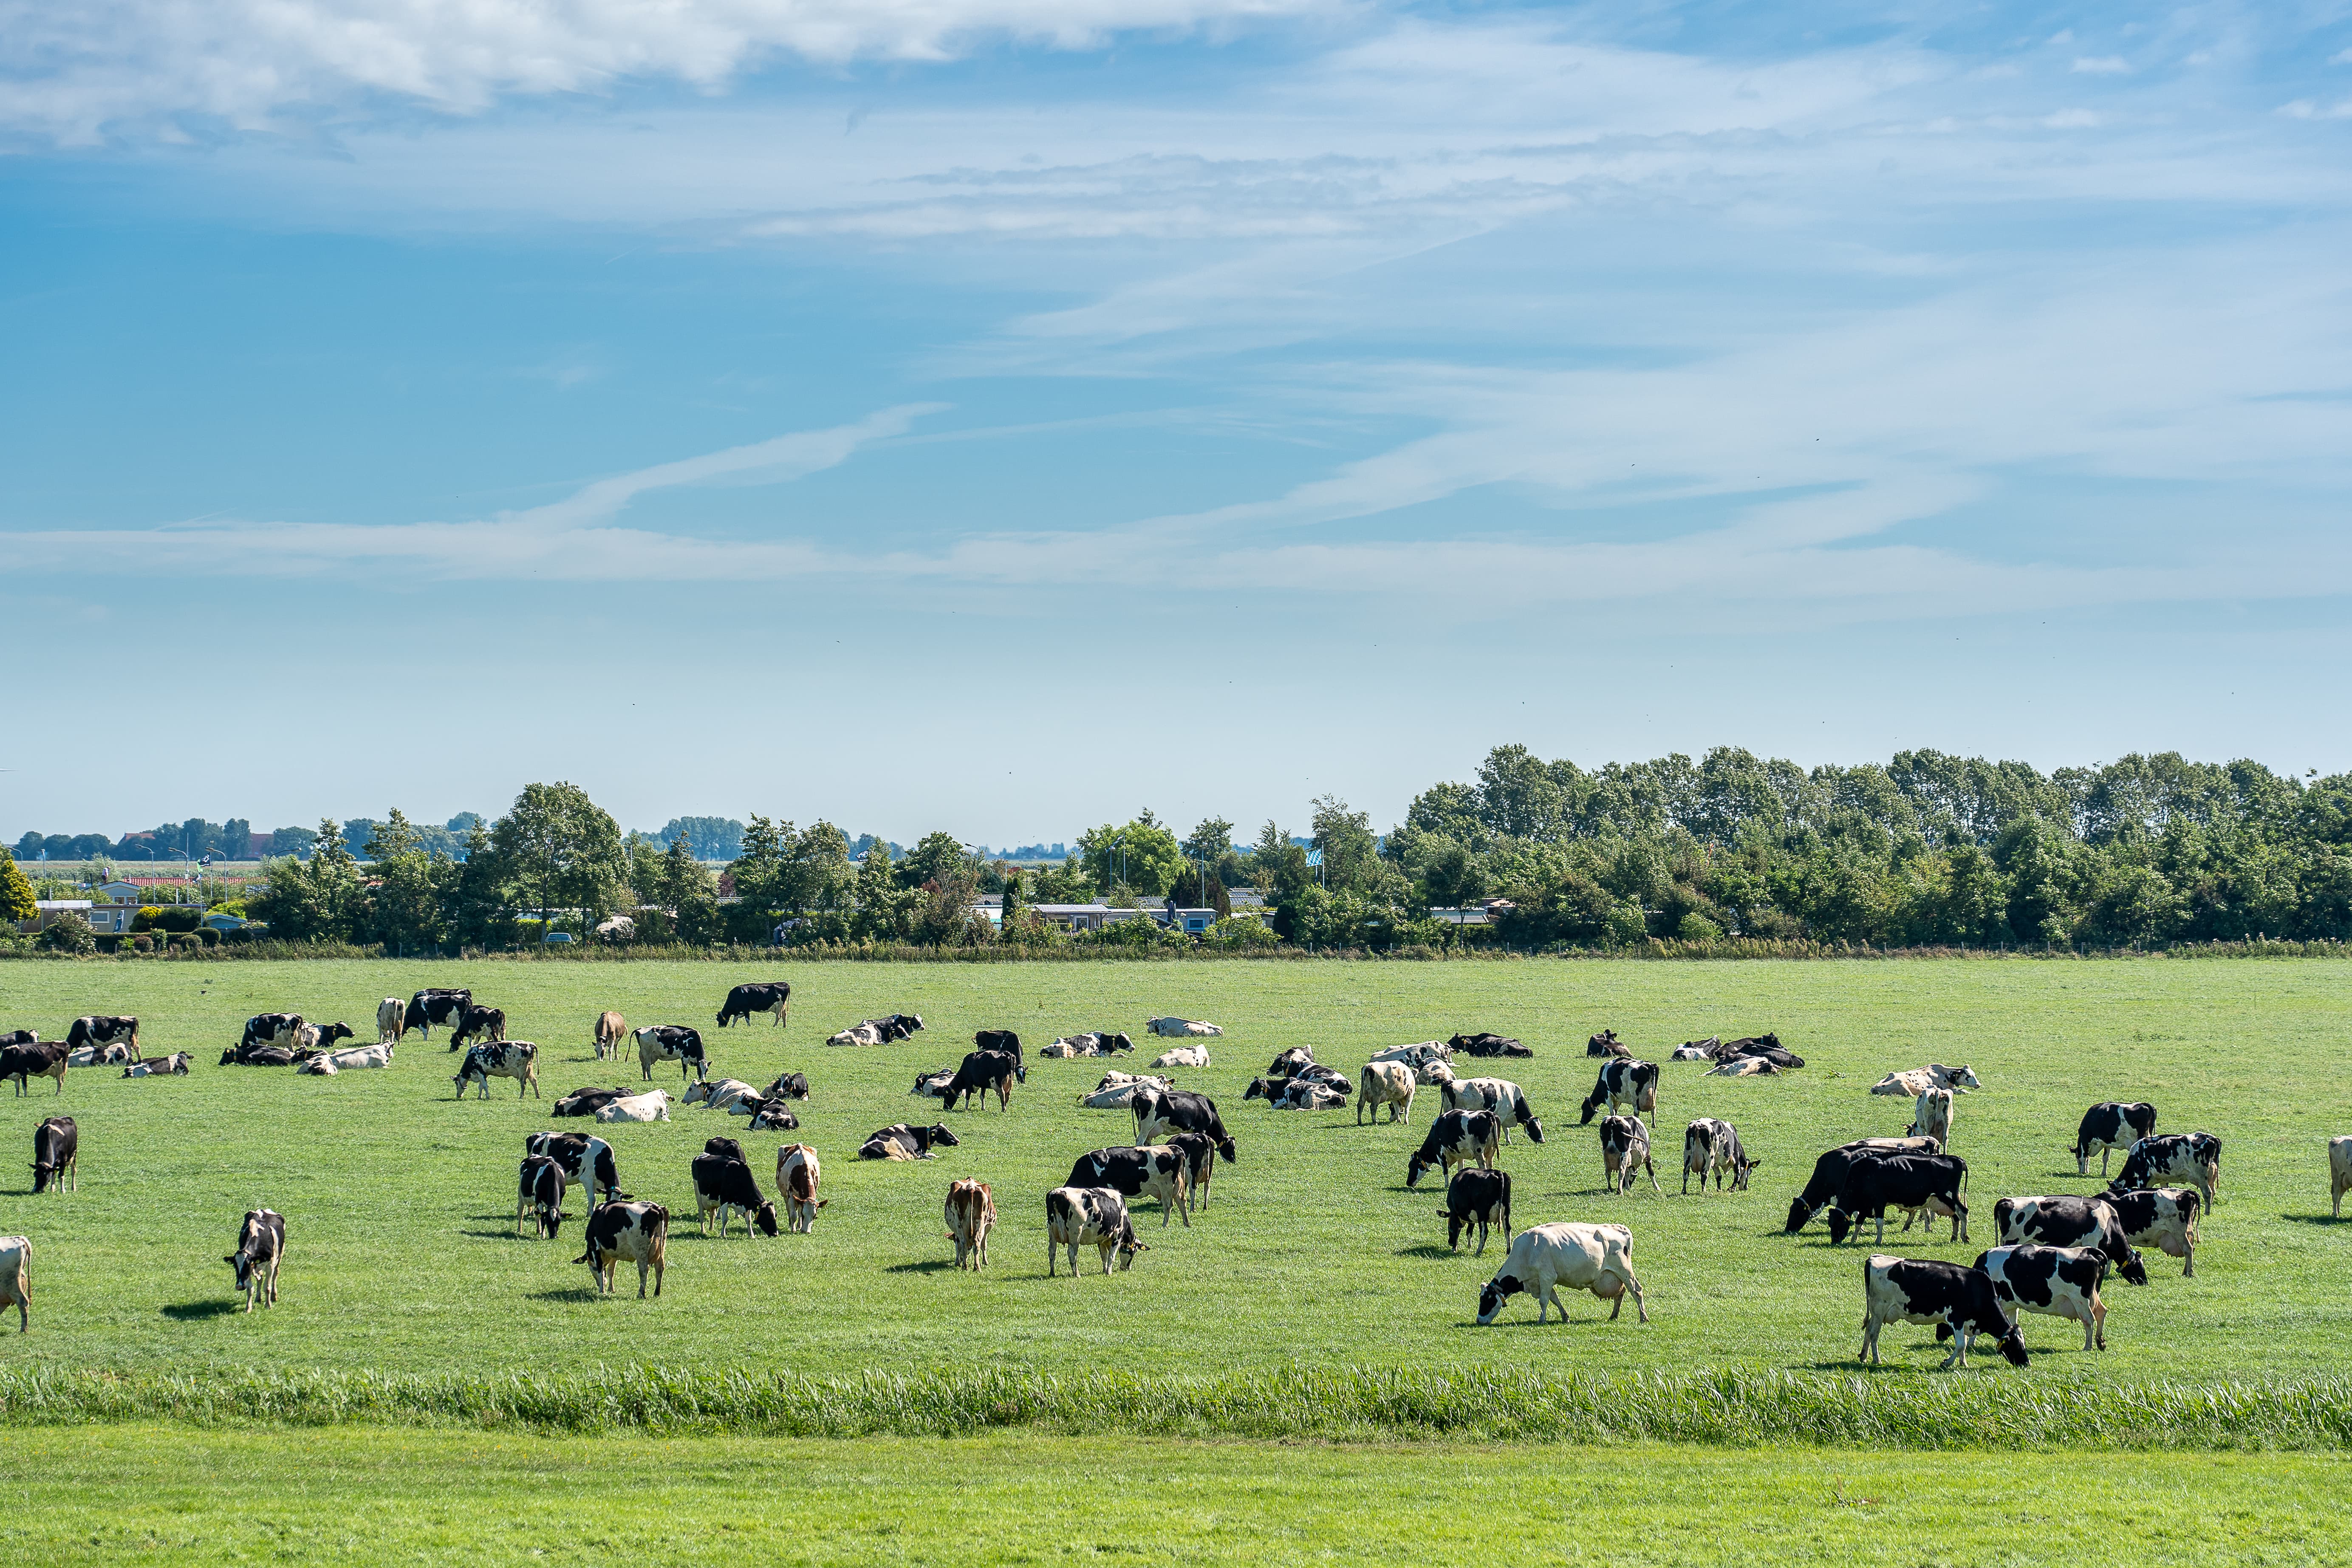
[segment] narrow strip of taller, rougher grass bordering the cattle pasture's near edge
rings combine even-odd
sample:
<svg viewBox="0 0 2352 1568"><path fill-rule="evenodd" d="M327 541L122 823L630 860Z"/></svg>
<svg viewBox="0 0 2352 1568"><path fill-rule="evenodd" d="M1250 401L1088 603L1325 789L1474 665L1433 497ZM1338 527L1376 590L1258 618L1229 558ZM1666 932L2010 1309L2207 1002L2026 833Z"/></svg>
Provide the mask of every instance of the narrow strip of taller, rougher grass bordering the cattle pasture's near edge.
<svg viewBox="0 0 2352 1568"><path fill-rule="evenodd" d="M1865 1448L2352 1448L2352 1375L2053 1387L2009 1368L1538 1375L1519 1368L1131 1373L564 1375L0 1371L0 1422L466 1425L541 1432L969 1436L1152 1432L1327 1441L1515 1439Z"/></svg>

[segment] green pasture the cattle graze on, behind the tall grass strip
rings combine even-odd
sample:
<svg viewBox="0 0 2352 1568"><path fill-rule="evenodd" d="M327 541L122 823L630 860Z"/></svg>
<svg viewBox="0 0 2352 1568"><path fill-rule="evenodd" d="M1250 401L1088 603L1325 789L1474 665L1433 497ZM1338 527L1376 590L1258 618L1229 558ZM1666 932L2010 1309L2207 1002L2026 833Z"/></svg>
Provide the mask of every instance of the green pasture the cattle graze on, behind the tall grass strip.
<svg viewBox="0 0 2352 1568"><path fill-rule="evenodd" d="M191 1079L122 1081L75 1072L7 1107L9 1175L0 1232L35 1244L35 1331L0 1335L0 1366L148 1371L332 1366L395 1373L560 1371L661 1361L699 1368L960 1371L1101 1368L1247 1373L1282 1366L1519 1363L1543 1371L1849 1368L1860 1324L1863 1248L1832 1251L1820 1227L1780 1237L1788 1197L1818 1150L1900 1133L1907 1103L1865 1093L1889 1067L1971 1063L1983 1093L1959 1105L1955 1150L1973 1166L1985 1227L1969 1246L1891 1246L1973 1258L2006 1192L2086 1192L2065 1154L2084 1105L2147 1098L2164 1128L2225 1140L2223 1206L2204 1227L2197 1279L2150 1255L2154 1286L2110 1286L2110 1345L2084 1354L2067 1324L2027 1319L2027 1382L2223 1380L2340 1371L2352 1345L2352 1225L2326 1220L2326 1135L2352 1131L2343 1041L2352 964L2331 961L1907 961L1907 964L988 964L887 966L779 961L797 997L790 1030L764 1018L717 1032L727 980L767 978L708 964L7 964L0 1027L61 1034L75 1013L139 1013L148 1053L188 1048ZM343 1018L372 1032L379 997L470 983L506 1006L510 1032L546 1053L548 1100L496 1081L487 1105L452 1103L442 1041L409 1041L390 1072L303 1079L216 1067L254 1011ZM593 1060L590 1018L706 1030L720 1072L767 1081L807 1070L816 1098L797 1138L828 1159L830 1208L814 1237L720 1241L684 1220L659 1302L595 1300L562 1241L515 1239L522 1135L550 1126L553 1095L637 1081ZM870 1013L917 1011L929 1032L873 1051L823 1034ZM1240 1138L1240 1164L1190 1232L1143 1208L1152 1251L1131 1274L1047 1279L1042 1194L1070 1161L1127 1143L1131 1121L1073 1105L1101 1067L1037 1063L1011 1114L955 1112L964 1143L927 1164L856 1164L875 1126L936 1112L908 1098L917 1067L953 1065L976 1027L1016 1027L1030 1046L1080 1027L1141 1037L1152 1013L1228 1027L1216 1067L1174 1072L1211 1091ZM1661 1098L1661 1180L1635 1197L1599 1192L1592 1128L1576 1100L1592 1081L1588 1032L1613 1025L1656 1051L1712 1032L1778 1030L1811 1065L1788 1079L1703 1079L1670 1065ZM1505 1150L1519 1222L1625 1220L1651 1326L1595 1321L1578 1298L1569 1328L1534 1326L1515 1305L1498 1328L1470 1324L1496 1253L1444 1251L1439 1192L1404 1190L1414 1126L1357 1128L1352 1112L1275 1114L1242 1086L1284 1046L1315 1046L1350 1072L1381 1046L1494 1027L1538 1056L1494 1070L1522 1081L1550 1143ZM1138 1065L1150 1058L1141 1048ZM677 1088L675 1067L663 1081ZM24 1194L28 1128L54 1110L82 1124L82 1190ZM1689 1117L1719 1114L1762 1154L1750 1194L1677 1197ZM929 1119L929 1117L927 1117ZM581 1126L581 1124L562 1124ZM621 1180L691 1215L687 1159L743 1121L680 1110L668 1126L609 1128ZM783 1135L746 1138L762 1185ZM2093 1166L2096 1171L2096 1166ZM957 1175L993 1182L1004 1227L983 1276L948 1269L938 1206ZM228 1312L238 1215L289 1218L285 1300ZM581 1199L572 1199L574 1215ZM1886 1335L1891 1378L1931 1366L1924 1328ZM1468 1493L1465 1493L1468 1495ZM1416 1507L1421 1519L1446 1509Z"/></svg>

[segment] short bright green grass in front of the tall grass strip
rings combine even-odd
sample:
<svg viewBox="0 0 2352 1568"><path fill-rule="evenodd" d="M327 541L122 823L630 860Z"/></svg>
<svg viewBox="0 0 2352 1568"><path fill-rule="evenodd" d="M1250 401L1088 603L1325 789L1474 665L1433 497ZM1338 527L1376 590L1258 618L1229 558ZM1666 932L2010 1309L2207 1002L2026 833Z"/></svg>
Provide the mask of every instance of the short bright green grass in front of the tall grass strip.
<svg viewBox="0 0 2352 1568"><path fill-rule="evenodd" d="M2319 1563L2336 1455L19 1432L9 1561Z"/></svg>

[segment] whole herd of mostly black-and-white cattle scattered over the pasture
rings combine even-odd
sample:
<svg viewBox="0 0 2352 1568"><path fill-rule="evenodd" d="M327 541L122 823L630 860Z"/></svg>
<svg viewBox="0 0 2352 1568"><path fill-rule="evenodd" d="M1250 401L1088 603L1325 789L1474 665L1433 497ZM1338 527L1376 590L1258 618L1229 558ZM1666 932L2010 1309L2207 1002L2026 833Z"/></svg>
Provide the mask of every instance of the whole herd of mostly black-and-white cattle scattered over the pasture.
<svg viewBox="0 0 2352 1568"><path fill-rule="evenodd" d="M769 1013L781 1027L793 987L783 980L736 985L717 1011L717 1025L748 1023ZM421 990L412 999L386 997L376 1009L376 1041L341 1048L353 1030L343 1023L310 1023L299 1013L259 1013L247 1020L235 1048L221 1053L221 1065L278 1065L306 1074L336 1074L365 1067L388 1067L409 1032L426 1041L433 1030L447 1032L449 1053L463 1051L454 1074L456 1098L468 1088L489 1095L489 1079L515 1081L515 1093L539 1093L539 1046L506 1039L506 1013L480 1006L468 990ZM830 1046L877 1046L913 1039L922 1032L915 1013L868 1018L828 1037ZM1188 1018L1152 1018L1148 1030L1160 1037L1209 1039L1223 1030ZM795 1103L809 1100L809 1079L783 1072L767 1088L739 1079L710 1079L710 1060L699 1030L689 1025L649 1025L630 1030L621 1013L600 1013L593 1027L600 1060L619 1058L623 1041L635 1041L640 1084L654 1079L661 1063L677 1063L682 1105L703 1105L748 1117L748 1131L795 1131ZM1068 1034L1040 1056L1127 1056L1134 1041L1120 1032ZM1585 1046L1599 1058L1592 1093L1585 1095L1581 1126L1599 1117L1599 1157L1604 1187L1625 1197L1639 1178L1663 1192L1651 1154L1658 1117L1663 1067L1632 1056L1616 1032L1595 1034ZM1489 1232L1501 1229L1505 1258L1479 1291L1477 1321L1491 1324L1517 1295L1536 1298L1536 1319L1552 1309L1566 1319L1557 1291L1590 1291L1611 1302L1616 1319L1625 1298L1639 1321L1649 1321L1642 1281L1632 1265L1632 1229L1628 1225L1548 1222L1512 1229L1512 1178L1498 1166L1515 1133L1529 1145L1545 1143L1543 1121L1526 1093L1501 1077L1461 1077L1461 1058L1526 1058L1534 1051L1503 1034L1456 1034L1449 1041L1421 1041L1376 1053L1350 1077L1315 1063L1310 1046L1282 1051L1244 1091L1247 1100L1265 1100L1270 1110L1341 1110L1355 1105L1357 1126L1367 1119L1406 1121L1416 1098L1430 1093L1439 1112L1404 1164L1406 1190L1437 1171L1446 1182L1446 1201L1437 1211L1446 1220L1446 1248L1458 1251L1477 1232L1477 1255L1484 1255ZM1710 1037L1689 1041L1672 1053L1675 1063L1710 1063L1708 1077L1780 1074L1804 1067L1773 1034L1724 1041ZM120 1065L122 1077L186 1074L188 1053L143 1058L139 1020L127 1016L85 1016L73 1020L64 1041L40 1041L33 1030L0 1034L0 1079L12 1079L19 1095L31 1093L31 1079L47 1077L64 1093L71 1067ZM1181 1046L1160 1056L1152 1067L1207 1067L1207 1046ZM915 1074L913 1095L936 1098L943 1110L957 1103L981 1110L995 1098L1000 1114L1011 1110L1018 1086L1028 1084L1028 1058L1011 1030L981 1030L974 1048L955 1067ZM1933 1234L1938 1220L1950 1225L1952 1241L1969 1239L1966 1159L1950 1152L1955 1105L1959 1095L1980 1088L1966 1067L1929 1063L1886 1074L1875 1095L1912 1100L1912 1124L1900 1138L1860 1138L1823 1152L1811 1178L1790 1201L1785 1232L1804 1229L1825 1215L1832 1246L1842 1246L1865 1220L1875 1225L1875 1246L1886 1241L1886 1213L1903 1213L1903 1229L1915 1222ZM1044 1194L1047 1274L1058 1272L1065 1253L1077 1274L1082 1246L1096 1248L1103 1274L1134 1267L1150 1251L1138 1237L1131 1201L1152 1199L1162 1229L1171 1218L1192 1227L1195 1208L1209 1201L1218 1161L1237 1161L1232 1133L1204 1093L1176 1088L1160 1074L1110 1070L1077 1095L1089 1110L1124 1110L1134 1117L1134 1143L1108 1145L1080 1154L1063 1185ZM670 1100L663 1088L626 1084L612 1088L576 1088L553 1105L555 1117L593 1117L595 1121L668 1121ZM1606 1112L1606 1114L1602 1114ZM1162 1143L1164 1140L1164 1143ZM943 1121L891 1124L877 1128L856 1159L915 1161L934 1159L936 1150L962 1140ZM2122 1171L2107 1180L2112 1157L2122 1152ZM2072 1145L2077 1173L2089 1175L2091 1154L2100 1159L2103 1192L2089 1197L2004 1197L1992 1206L1994 1241L1971 1265L1912 1260L1872 1253L1863 1267L1863 1356L1877 1361L1879 1331L1891 1321L1933 1324L1938 1340L1950 1338L1945 1366L1966 1366L1976 1335L1987 1335L1999 1354L2016 1366L2027 1363L2018 1338L2018 1314L2049 1314L2082 1324L2084 1349L2105 1349L2107 1274L2145 1286L2143 1246L2154 1246L2183 1260L2183 1274L2197 1272L2197 1222L2218 1201L2220 1140L2206 1131L2157 1133L2157 1107L2147 1103L2100 1103L2084 1112ZM80 1128L73 1117L49 1117L33 1133L33 1192L80 1190ZM1738 1128L1722 1117L1698 1117L1684 1128L1682 1192L1691 1178L1700 1192L1748 1190L1762 1159L1752 1157ZM689 1180L701 1229L724 1237L741 1218L746 1234L779 1234L776 1201L753 1173L743 1145L713 1135L689 1159ZM2328 1178L2333 1211L2340 1218L2343 1197L2352 1190L2352 1138L2328 1140ZM783 1227L809 1232L828 1199L818 1197L823 1180L814 1147L786 1143L776 1150L776 1194L783 1199ZM564 1222L564 1197L581 1187L588 1199L586 1262L600 1293L614 1291L616 1269L637 1265L637 1295L661 1295L670 1211L619 1190L619 1164L612 1145L593 1133L532 1133L524 1140L517 1173L515 1227L529 1227L555 1239ZM981 1180L955 1180L948 1190L946 1234L955 1246L955 1267L988 1262L988 1234L997 1222L995 1194ZM235 1269L245 1309L275 1305L278 1267L285 1258L287 1225L270 1208L245 1215L238 1251L226 1258ZM16 1305L19 1331L31 1328L31 1241L0 1237L0 1309Z"/></svg>

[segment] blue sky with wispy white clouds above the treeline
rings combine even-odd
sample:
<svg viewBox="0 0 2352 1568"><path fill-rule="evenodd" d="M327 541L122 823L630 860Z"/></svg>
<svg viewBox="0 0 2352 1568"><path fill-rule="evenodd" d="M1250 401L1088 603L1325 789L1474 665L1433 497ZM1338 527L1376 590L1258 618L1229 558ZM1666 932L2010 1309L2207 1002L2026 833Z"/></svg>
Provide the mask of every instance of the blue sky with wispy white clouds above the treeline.
<svg viewBox="0 0 2352 1568"><path fill-rule="evenodd" d="M0 7L0 835L2352 766L2352 5Z"/></svg>

